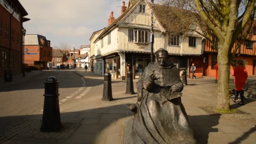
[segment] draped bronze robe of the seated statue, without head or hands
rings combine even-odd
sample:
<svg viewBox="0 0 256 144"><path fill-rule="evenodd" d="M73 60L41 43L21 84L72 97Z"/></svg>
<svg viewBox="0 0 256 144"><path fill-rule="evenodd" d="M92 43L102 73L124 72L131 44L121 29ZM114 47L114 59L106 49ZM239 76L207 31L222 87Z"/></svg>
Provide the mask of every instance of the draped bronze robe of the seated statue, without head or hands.
<svg viewBox="0 0 256 144"><path fill-rule="evenodd" d="M159 79L151 88L143 89L143 98L133 119L131 144L195 144L181 93L171 91L172 85L181 83L179 70L173 64L161 67L151 63L145 68L140 83L147 82L154 70Z"/></svg>

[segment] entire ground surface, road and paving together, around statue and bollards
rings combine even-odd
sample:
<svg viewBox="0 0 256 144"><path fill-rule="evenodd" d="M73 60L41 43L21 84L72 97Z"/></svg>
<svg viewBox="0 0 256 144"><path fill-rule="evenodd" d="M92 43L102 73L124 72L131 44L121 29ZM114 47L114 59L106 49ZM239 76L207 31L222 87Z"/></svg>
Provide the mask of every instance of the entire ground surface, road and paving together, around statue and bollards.
<svg viewBox="0 0 256 144"><path fill-rule="evenodd" d="M43 109L43 81L53 75L60 81L59 104L62 129L40 132ZM1 135L3 144L119 144L123 123L133 117L128 104L136 94L125 94L126 81L112 78L113 101L101 101L103 79L84 70L43 71L20 82L0 87ZM136 91L134 80L134 91ZM230 80L232 88L233 80ZM39 86L30 87L31 85ZM216 102L216 83L211 77L188 79L182 103L200 144L252 144L256 137L256 77L248 77L246 104L232 102L239 114L205 111ZM36 92L32 92L32 90ZM19 95L19 96L17 96ZM8 98L9 97L9 98ZM20 99L21 98L21 99ZM12 99L12 101L11 101ZM27 101L27 102L26 102ZM34 102L33 102L34 101ZM27 106L26 106L27 105ZM6 110L7 108L7 110Z"/></svg>

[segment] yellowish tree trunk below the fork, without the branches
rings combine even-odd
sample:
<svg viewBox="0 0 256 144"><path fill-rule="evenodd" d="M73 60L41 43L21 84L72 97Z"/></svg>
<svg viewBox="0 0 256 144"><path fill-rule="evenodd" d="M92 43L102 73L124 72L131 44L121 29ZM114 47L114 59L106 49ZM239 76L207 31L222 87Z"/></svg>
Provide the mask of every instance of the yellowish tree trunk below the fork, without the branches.
<svg viewBox="0 0 256 144"><path fill-rule="evenodd" d="M217 89L216 109L230 109L229 107L229 55L223 47L218 51L219 79Z"/></svg>

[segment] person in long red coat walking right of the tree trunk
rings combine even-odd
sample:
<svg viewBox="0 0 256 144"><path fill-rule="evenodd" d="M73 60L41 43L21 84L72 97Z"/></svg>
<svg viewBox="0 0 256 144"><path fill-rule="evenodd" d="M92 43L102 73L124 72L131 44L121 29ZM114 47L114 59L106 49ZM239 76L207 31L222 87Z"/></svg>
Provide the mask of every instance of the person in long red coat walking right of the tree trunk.
<svg viewBox="0 0 256 144"><path fill-rule="evenodd" d="M248 77L247 70L245 69L245 63L242 59L237 60L237 66L235 66L234 70L232 71L232 75L235 76L235 98L232 99L236 102L238 95L240 94L241 102L239 104L244 104L244 96L243 96L243 86L245 85L246 79Z"/></svg>

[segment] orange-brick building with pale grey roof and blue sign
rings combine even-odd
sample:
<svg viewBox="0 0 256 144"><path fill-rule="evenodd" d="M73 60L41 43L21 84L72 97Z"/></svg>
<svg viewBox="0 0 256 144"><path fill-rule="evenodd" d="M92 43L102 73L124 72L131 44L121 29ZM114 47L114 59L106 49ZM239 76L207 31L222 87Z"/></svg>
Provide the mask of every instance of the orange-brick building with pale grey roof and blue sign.
<svg viewBox="0 0 256 144"><path fill-rule="evenodd" d="M40 69L47 69L47 62L52 61L51 41L43 35L25 36L24 58L25 64Z"/></svg>

